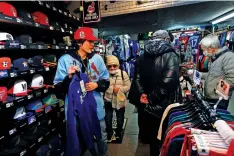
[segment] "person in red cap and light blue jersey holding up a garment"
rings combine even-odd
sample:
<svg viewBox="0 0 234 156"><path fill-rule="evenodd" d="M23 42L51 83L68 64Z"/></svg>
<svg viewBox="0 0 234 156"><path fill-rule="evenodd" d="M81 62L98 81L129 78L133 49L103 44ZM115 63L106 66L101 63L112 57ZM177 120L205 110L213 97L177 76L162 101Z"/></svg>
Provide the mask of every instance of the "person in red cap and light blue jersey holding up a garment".
<svg viewBox="0 0 234 156"><path fill-rule="evenodd" d="M54 78L55 90L60 94L67 94L69 84L73 74L77 71L86 73L90 82L85 84L86 91L93 91L97 102L97 116L100 120L102 139L97 140L99 156L106 156L107 134L104 121L104 102L100 92L105 92L109 88L109 72L102 57L92 53L94 41L98 39L93 35L93 30L88 27L81 27L74 33L74 40L77 44L76 51L70 51L61 56ZM67 95L65 98L65 115L67 117Z"/></svg>

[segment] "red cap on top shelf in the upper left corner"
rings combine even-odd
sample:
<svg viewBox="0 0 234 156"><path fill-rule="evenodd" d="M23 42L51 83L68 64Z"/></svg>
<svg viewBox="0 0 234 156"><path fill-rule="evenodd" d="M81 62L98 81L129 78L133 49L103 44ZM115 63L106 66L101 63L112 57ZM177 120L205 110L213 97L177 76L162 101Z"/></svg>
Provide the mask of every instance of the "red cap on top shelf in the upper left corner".
<svg viewBox="0 0 234 156"><path fill-rule="evenodd" d="M6 2L0 2L0 12L6 16L17 17L17 11L15 7Z"/></svg>

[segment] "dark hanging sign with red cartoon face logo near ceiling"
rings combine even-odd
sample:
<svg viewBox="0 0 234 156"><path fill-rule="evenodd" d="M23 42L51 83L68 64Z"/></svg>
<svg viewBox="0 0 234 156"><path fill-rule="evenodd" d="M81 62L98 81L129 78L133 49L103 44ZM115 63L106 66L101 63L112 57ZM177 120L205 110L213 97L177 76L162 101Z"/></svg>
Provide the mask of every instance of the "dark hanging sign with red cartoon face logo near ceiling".
<svg viewBox="0 0 234 156"><path fill-rule="evenodd" d="M100 2L95 0L83 0L83 22L99 22L101 19Z"/></svg>

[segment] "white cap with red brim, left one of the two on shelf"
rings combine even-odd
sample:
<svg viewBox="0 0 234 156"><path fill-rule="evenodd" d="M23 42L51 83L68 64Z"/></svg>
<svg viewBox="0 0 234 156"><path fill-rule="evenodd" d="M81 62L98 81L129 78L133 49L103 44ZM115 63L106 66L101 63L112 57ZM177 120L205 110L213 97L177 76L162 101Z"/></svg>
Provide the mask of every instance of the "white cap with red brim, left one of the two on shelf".
<svg viewBox="0 0 234 156"><path fill-rule="evenodd" d="M31 92L31 90L28 90L27 82L25 80L11 81L9 83L9 88L8 94L14 96L26 96L28 95L28 92Z"/></svg>

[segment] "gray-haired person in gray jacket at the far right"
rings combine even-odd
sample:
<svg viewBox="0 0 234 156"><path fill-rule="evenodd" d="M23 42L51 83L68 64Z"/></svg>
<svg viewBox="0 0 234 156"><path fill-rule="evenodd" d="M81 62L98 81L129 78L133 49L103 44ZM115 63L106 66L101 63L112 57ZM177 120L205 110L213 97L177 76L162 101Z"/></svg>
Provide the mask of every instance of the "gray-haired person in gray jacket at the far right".
<svg viewBox="0 0 234 156"><path fill-rule="evenodd" d="M200 42L201 48L205 56L211 57L212 64L208 73L202 73L204 80L204 95L206 100L214 105L219 96L215 89L220 79L225 80L229 84L234 83L234 53L229 51L227 47L220 47L218 36L209 35ZM222 100L217 108L227 109L229 100Z"/></svg>

